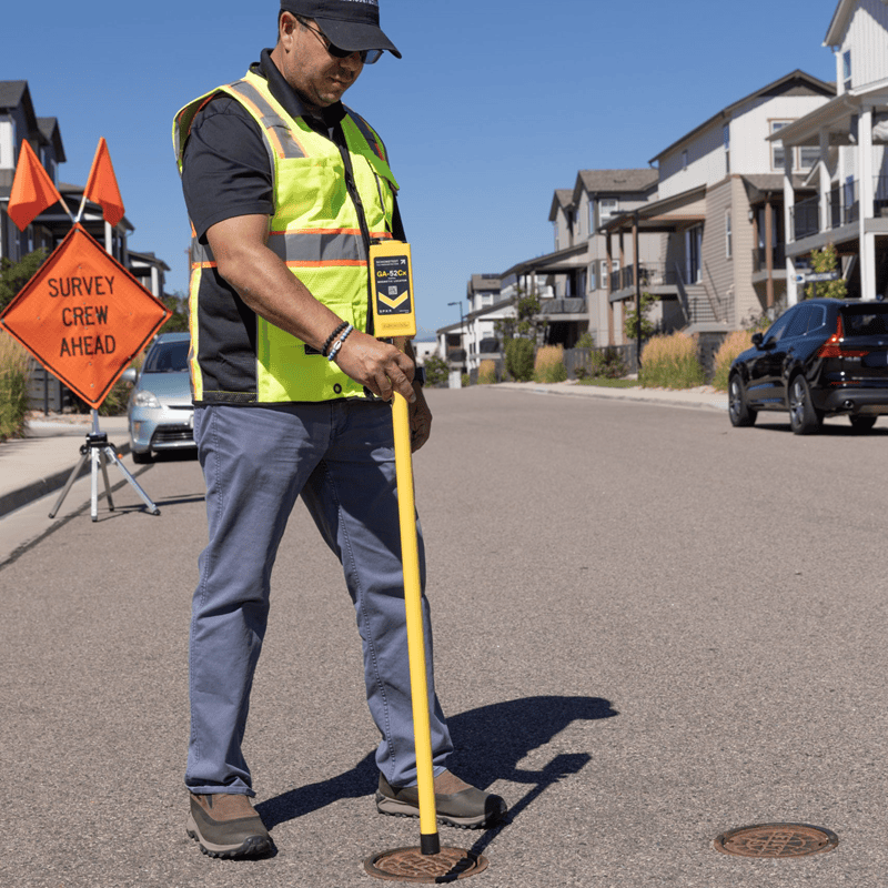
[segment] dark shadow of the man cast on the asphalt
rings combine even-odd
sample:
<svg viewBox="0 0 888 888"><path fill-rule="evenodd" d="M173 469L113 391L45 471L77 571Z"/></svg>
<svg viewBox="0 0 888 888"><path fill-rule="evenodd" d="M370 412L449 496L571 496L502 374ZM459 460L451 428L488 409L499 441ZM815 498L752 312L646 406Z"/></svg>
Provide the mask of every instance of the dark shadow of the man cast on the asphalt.
<svg viewBox="0 0 888 888"><path fill-rule="evenodd" d="M556 755L541 770L518 768L534 749L548 744L573 722L612 718L618 713L601 697L526 697L495 703L447 719L456 751L451 765L460 777L481 789L496 780L527 784L521 798L509 798L509 821L562 777L577 774L592 759L588 753ZM376 788L379 771L373 753L351 770L321 783L301 786L256 805L269 829L302 817L342 798L361 798ZM488 830L475 842L480 852L498 833Z"/></svg>

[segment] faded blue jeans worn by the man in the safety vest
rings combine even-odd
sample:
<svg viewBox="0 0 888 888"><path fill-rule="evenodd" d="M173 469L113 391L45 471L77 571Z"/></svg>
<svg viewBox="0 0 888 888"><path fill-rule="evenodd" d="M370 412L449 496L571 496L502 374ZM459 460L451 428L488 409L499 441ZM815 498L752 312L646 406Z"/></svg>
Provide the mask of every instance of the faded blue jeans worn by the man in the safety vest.
<svg viewBox="0 0 888 888"><path fill-rule="evenodd" d="M194 412L194 440L210 542L192 603L186 786L192 793L254 795L241 743L271 571L300 494L342 563L354 603L367 703L382 735L376 764L393 786L415 784L391 407L360 401L205 406ZM424 587L418 521L417 533ZM434 692L424 595L423 605L437 774L453 746ZM332 708L330 716L335 718Z"/></svg>

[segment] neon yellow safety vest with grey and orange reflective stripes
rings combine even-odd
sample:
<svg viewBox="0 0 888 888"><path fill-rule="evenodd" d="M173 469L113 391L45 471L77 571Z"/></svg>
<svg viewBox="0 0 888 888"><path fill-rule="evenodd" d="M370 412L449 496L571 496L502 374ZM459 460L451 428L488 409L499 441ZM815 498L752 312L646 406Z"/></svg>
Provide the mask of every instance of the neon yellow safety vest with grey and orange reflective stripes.
<svg viewBox="0 0 888 888"><path fill-rule="evenodd" d="M175 115L173 144L180 172L191 123L198 111L219 93L240 102L264 135L274 174L275 210L270 221L269 248L315 299L356 330L366 331L367 250L359 211L346 186L340 149L302 118L290 117L272 95L264 78L250 71L242 80L195 99ZM350 109L346 112L341 125L369 235L391 238L397 182L389 168L382 140L363 118ZM214 268L209 246L193 238L189 304L191 375L196 402L263 404L366 396L364 389L335 362L258 315L254 379L244 380L243 391L209 391L200 366L198 319L203 275Z"/></svg>

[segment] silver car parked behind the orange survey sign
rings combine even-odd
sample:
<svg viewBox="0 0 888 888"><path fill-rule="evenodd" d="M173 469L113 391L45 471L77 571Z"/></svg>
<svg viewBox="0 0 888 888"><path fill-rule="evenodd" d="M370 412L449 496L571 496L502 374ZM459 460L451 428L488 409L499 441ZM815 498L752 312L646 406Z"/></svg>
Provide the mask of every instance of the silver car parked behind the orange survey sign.
<svg viewBox="0 0 888 888"><path fill-rule="evenodd" d="M133 383L127 416L133 462L150 463L154 453L194 447L194 408L188 333L161 333L154 337L142 369L127 370L122 379Z"/></svg>

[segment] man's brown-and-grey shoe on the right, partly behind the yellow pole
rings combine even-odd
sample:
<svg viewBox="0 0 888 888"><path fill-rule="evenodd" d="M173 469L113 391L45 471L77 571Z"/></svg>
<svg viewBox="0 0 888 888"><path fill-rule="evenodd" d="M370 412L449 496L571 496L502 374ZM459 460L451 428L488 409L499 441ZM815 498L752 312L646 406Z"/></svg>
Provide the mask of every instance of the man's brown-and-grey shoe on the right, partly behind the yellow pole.
<svg viewBox="0 0 888 888"><path fill-rule="evenodd" d="M420 816L420 790L415 786L393 787L380 775L376 810L394 817ZM502 796L483 793L445 770L435 777L435 815L438 823L462 829L493 826L506 815Z"/></svg>

